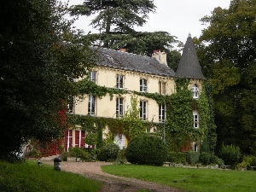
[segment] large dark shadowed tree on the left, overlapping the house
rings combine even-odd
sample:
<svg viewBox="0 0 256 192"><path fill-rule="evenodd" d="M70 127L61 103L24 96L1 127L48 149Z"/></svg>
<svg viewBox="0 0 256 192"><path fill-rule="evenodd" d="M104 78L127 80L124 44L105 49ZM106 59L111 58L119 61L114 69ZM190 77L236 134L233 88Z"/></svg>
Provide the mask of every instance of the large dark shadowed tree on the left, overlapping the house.
<svg viewBox="0 0 256 192"><path fill-rule="evenodd" d="M13 158L32 137L51 141L66 128L60 113L73 93L68 79L83 76L92 60L87 46L63 44L70 29L64 14L55 0L1 1L0 159Z"/></svg>

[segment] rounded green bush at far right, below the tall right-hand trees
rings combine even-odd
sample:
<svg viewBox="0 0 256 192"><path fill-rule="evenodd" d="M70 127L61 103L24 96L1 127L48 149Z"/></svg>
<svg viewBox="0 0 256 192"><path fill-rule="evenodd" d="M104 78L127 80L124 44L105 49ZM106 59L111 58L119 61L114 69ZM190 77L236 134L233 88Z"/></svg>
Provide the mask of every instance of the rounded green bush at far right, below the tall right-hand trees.
<svg viewBox="0 0 256 192"><path fill-rule="evenodd" d="M240 148L235 145L223 145L219 156L225 165L235 166L241 159Z"/></svg>

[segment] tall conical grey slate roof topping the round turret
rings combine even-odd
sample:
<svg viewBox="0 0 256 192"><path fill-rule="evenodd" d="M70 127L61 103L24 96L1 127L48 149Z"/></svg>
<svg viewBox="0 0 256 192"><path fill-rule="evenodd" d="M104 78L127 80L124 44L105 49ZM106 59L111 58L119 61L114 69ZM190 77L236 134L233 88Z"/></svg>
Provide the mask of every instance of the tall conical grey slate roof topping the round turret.
<svg viewBox="0 0 256 192"><path fill-rule="evenodd" d="M190 34L183 49L181 60L178 63L176 75L178 78L204 79Z"/></svg>

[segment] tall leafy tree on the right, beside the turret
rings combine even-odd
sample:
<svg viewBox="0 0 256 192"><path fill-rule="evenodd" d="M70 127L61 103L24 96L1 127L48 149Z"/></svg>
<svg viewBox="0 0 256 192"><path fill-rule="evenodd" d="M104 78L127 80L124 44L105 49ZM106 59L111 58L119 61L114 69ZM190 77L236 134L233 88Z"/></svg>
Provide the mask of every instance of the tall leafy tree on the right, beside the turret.
<svg viewBox="0 0 256 192"><path fill-rule="evenodd" d="M235 144L242 153L255 154L255 13L253 0L233 0L229 9L216 8L201 21L210 25L203 30L200 49L205 75L212 79L218 149Z"/></svg>

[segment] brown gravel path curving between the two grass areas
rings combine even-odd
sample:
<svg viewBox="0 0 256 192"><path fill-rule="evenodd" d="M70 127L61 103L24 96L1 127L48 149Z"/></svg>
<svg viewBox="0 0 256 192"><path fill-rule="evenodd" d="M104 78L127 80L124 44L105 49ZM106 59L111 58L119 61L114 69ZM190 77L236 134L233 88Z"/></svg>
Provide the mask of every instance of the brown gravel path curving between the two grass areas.
<svg viewBox="0 0 256 192"><path fill-rule="evenodd" d="M53 166L53 161L44 160L45 164ZM148 189L152 192L181 192L160 184L141 181L135 178L118 177L102 172L101 166L111 165L105 162L61 162L61 170L74 172L84 177L94 178L103 181L105 184L100 192L136 192L137 189Z"/></svg>

